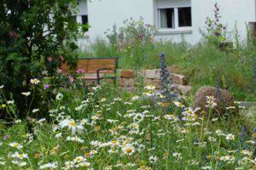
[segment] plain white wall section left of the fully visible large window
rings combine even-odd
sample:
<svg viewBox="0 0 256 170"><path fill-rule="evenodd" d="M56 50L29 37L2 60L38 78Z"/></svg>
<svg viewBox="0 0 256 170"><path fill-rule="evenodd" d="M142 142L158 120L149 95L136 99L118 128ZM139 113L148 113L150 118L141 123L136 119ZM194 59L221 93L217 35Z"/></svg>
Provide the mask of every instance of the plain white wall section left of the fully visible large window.
<svg viewBox="0 0 256 170"><path fill-rule="evenodd" d="M90 38L104 37L104 32L114 24L123 26L126 19L154 23L154 0L93 0L88 3Z"/></svg>

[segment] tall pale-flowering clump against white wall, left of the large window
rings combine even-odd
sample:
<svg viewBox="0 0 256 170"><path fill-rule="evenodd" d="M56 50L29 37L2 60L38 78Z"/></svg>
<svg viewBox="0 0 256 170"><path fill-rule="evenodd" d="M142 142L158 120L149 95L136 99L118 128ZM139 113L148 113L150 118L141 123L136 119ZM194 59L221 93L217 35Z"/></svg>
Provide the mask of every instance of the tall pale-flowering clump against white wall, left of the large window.
<svg viewBox="0 0 256 170"><path fill-rule="evenodd" d="M113 26L106 35L111 47L111 51L116 56L125 54L131 60L131 65L143 67L148 61L148 49L153 42L155 29L153 26L145 25L143 18L140 20L125 20L124 26ZM115 51L114 51L115 50Z"/></svg>

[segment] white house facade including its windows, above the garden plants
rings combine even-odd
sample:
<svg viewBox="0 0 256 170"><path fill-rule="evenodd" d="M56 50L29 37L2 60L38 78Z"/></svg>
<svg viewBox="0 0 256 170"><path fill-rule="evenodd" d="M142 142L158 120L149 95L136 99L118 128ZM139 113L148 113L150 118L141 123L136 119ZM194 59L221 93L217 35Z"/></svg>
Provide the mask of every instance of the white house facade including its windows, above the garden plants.
<svg viewBox="0 0 256 170"><path fill-rule="evenodd" d="M241 40L247 36L247 24L256 21L255 0L82 0L79 23L88 23L89 30L79 38L79 46L105 37L104 32L123 21L143 17L145 24L157 28L156 38L180 42L201 40L200 29L206 27L207 17L214 18L214 4L220 8L220 22L232 31L237 27Z"/></svg>

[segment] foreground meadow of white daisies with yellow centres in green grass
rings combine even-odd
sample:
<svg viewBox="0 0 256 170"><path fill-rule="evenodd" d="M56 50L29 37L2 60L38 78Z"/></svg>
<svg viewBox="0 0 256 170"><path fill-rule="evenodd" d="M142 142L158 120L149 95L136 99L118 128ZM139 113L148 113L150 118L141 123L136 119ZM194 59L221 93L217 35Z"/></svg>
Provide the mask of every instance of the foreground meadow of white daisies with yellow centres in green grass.
<svg viewBox="0 0 256 170"><path fill-rule="evenodd" d="M49 90L36 78L31 83ZM239 115L238 102L220 116L212 96L199 111L154 86L131 95L78 85L55 90L44 117L32 118L41 111L31 108L26 119L1 122L1 169L254 169L253 122ZM1 111L15 117L17 101L5 100L4 90Z"/></svg>

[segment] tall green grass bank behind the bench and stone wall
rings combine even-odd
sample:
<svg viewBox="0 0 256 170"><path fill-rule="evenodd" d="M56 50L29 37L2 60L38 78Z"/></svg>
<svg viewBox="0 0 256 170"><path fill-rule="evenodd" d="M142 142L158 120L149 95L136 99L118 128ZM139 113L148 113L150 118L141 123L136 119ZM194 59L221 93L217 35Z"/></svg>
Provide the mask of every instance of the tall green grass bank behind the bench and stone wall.
<svg viewBox="0 0 256 170"><path fill-rule="evenodd" d="M202 85L215 86L221 82L221 88L232 91L236 99L253 100L253 50L241 48L239 54L223 51L210 43L198 43L194 46L186 42L164 41L148 42L143 51L135 55L132 48L119 50L108 41L97 39L90 49L80 52L81 57L118 56L120 69L156 69L160 68L159 53L164 51L169 69L189 77L194 93ZM143 62L140 61L145 56Z"/></svg>

